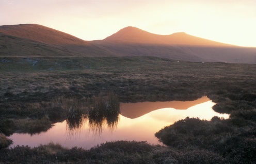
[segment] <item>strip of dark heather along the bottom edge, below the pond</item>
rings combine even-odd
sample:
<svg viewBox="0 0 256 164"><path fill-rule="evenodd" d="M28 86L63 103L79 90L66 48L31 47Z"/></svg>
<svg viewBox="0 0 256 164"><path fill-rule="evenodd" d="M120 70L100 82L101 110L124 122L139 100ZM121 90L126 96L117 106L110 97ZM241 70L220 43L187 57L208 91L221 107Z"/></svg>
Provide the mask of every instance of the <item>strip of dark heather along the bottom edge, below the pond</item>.
<svg viewBox="0 0 256 164"><path fill-rule="evenodd" d="M229 163L212 151L176 150L146 141L106 142L85 150L58 143L30 148L17 145L0 151L0 163Z"/></svg>

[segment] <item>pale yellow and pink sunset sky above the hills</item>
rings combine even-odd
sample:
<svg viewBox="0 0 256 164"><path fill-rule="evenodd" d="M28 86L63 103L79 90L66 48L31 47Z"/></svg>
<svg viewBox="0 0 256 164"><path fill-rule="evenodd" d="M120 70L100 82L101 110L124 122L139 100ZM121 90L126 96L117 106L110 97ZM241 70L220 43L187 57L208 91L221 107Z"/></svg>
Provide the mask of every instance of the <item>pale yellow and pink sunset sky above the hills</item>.
<svg viewBox="0 0 256 164"><path fill-rule="evenodd" d="M256 47L256 1L0 0L0 25L35 23L83 40L134 26L156 34L186 32Z"/></svg>

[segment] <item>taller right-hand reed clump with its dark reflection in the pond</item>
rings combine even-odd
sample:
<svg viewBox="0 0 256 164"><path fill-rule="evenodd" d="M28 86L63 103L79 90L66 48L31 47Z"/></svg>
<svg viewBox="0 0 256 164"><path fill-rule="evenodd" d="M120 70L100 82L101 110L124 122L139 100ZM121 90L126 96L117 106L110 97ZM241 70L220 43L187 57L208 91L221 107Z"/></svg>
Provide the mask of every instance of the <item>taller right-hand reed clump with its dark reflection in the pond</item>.
<svg viewBox="0 0 256 164"><path fill-rule="evenodd" d="M117 126L120 114L120 102L113 92L94 96L88 111L89 125L95 131L102 131L104 122L113 130Z"/></svg>

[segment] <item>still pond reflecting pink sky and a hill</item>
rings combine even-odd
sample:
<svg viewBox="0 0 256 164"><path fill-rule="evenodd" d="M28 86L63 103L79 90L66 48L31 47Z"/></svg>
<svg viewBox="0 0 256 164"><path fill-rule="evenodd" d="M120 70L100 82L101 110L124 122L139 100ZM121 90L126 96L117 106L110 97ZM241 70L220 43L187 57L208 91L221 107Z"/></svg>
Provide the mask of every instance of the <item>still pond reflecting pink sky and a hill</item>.
<svg viewBox="0 0 256 164"><path fill-rule="evenodd" d="M93 125L88 120L84 120L78 128L70 129L67 121L58 122L44 133L32 136L14 133L10 136L13 140L11 147L17 144L37 147L40 144L54 142L67 148L90 149L97 144L116 140L161 144L154 134L180 119L198 117L210 120L213 116L229 118L227 114L214 112L212 109L214 104L207 97L195 101L121 103L121 114L110 126L107 125L107 121Z"/></svg>

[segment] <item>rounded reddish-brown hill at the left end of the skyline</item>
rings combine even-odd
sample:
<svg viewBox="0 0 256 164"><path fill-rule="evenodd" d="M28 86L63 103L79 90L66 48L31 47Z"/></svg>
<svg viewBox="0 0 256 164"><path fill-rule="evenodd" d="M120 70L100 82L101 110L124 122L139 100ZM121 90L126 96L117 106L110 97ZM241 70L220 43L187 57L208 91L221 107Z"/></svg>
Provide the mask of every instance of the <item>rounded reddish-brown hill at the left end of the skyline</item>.
<svg viewBox="0 0 256 164"><path fill-rule="evenodd" d="M114 55L114 54L111 54L111 52L109 52L108 50L105 50L96 45L93 45L88 41L84 41L70 34L67 34L65 32L61 32L61 31L58 31L49 27L37 25L37 24L0 26L0 33L9 35L12 37L17 37L20 39L26 39L26 41L30 43L35 42L37 44L40 43L50 47L55 47L55 49L66 50L73 53L73 55L75 56L77 55L78 56L113 56ZM9 40L8 42L11 42L11 41ZM20 44L23 44L23 42ZM12 45L12 43L9 43L9 44ZM29 47L26 47L26 49L28 50ZM30 50L34 51L33 49L34 49L34 46L31 46ZM19 54L20 52L17 51L16 53ZM29 50L27 53L29 53Z"/></svg>

